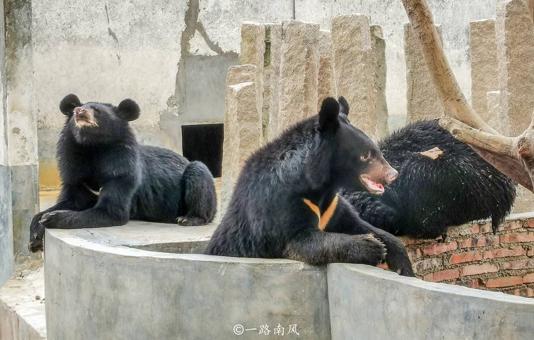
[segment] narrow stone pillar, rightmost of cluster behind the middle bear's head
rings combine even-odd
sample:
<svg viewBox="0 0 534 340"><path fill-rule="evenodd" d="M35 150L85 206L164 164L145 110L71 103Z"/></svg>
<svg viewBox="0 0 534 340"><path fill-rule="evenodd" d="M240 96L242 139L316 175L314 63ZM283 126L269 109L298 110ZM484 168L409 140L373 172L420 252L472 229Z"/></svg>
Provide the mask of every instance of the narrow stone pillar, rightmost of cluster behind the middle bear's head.
<svg viewBox="0 0 534 340"><path fill-rule="evenodd" d="M386 41L382 27L371 26L371 50L373 53L374 91L376 98L376 123L378 137L388 134L388 103L386 101Z"/></svg>

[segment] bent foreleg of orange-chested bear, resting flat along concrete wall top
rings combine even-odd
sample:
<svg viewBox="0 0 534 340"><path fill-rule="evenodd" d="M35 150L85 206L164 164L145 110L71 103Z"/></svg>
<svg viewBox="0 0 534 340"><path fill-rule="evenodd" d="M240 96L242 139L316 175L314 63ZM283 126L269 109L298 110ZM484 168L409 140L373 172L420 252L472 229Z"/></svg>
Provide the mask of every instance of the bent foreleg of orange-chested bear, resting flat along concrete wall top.
<svg viewBox="0 0 534 340"><path fill-rule="evenodd" d="M287 242L283 255L315 265L335 262L377 265L386 259L386 247L371 234L303 230Z"/></svg>

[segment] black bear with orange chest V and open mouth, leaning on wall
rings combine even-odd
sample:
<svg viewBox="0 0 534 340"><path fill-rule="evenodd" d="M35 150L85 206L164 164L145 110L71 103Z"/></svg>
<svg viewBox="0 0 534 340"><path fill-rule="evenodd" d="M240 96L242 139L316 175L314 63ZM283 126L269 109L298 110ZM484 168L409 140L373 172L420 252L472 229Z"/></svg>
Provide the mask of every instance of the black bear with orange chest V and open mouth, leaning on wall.
<svg viewBox="0 0 534 340"><path fill-rule="evenodd" d="M381 192L397 172L327 98L318 116L289 128L246 161L210 255L289 258L311 264L376 265L413 270L402 242L363 221L341 188ZM384 247L385 245L385 247ZM386 255L387 251L387 255Z"/></svg>

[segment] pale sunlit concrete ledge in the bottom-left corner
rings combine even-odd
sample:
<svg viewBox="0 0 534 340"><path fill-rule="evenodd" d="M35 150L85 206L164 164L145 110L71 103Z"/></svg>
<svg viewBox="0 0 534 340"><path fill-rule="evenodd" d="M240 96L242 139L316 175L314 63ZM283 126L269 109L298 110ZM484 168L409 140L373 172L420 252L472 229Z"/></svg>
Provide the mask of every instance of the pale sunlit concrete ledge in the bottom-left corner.
<svg viewBox="0 0 534 340"><path fill-rule="evenodd" d="M27 275L9 279L0 288L0 339L46 339L44 301L42 266Z"/></svg>

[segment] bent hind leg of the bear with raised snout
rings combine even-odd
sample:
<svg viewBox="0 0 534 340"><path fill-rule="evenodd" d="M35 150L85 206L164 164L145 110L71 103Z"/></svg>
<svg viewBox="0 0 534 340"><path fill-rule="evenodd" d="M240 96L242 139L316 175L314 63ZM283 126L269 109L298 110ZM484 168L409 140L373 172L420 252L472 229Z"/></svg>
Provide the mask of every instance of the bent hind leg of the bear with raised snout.
<svg viewBox="0 0 534 340"><path fill-rule="evenodd" d="M205 225L213 221L217 212L215 184L208 167L200 161L187 164L182 175L183 216L179 225Z"/></svg>

